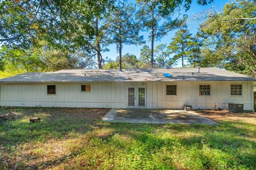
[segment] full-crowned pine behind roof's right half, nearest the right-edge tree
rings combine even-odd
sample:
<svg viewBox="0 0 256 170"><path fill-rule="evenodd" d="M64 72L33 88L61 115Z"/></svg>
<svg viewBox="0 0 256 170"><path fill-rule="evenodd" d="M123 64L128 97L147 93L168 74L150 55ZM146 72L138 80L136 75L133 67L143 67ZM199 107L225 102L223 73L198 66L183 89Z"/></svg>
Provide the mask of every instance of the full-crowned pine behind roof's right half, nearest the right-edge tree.
<svg viewBox="0 0 256 170"><path fill-rule="evenodd" d="M171 50L171 53L174 53L173 62L181 60L182 67L184 66L184 61L191 54L190 49L195 45L191 33L187 30L187 27L183 27L178 30L168 48Z"/></svg>

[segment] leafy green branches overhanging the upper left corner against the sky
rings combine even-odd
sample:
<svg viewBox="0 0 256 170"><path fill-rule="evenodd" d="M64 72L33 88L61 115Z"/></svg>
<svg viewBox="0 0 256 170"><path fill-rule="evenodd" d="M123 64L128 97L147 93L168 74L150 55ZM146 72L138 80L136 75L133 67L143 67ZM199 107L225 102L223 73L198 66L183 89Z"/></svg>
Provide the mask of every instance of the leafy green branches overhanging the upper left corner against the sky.
<svg viewBox="0 0 256 170"><path fill-rule="evenodd" d="M56 48L88 45L95 35L91 21L114 1L1 1L0 42L30 48L45 40Z"/></svg>

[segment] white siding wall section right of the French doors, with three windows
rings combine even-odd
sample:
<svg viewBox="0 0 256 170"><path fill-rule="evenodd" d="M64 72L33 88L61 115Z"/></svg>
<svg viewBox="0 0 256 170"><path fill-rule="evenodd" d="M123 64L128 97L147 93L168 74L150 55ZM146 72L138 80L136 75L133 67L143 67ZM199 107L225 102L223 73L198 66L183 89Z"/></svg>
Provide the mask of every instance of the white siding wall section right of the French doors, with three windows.
<svg viewBox="0 0 256 170"><path fill-rule="evenodd" d="M177 95L166 96L167 84L177 84ZM211 95L200 96L199 84L210 84ZM230 95L230 84L242 84L242 96ZM184 104L190 104L195 109L226 108L227 103L244 104L245 110L252 110L251 82L210 81L210 82L148 82L148 108L180 109ZM217 104L215 106L215 104Z"/></svg>

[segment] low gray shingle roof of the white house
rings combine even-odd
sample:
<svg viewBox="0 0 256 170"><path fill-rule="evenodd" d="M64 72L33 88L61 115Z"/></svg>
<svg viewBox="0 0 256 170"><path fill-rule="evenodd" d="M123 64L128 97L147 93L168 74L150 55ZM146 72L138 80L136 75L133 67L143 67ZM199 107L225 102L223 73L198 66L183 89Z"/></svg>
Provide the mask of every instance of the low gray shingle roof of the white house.
<svg viewBox="0 0 256 170"><path fill-rule="evenodd" d="M165 77L169 73L172 77ZM194 74L194 78L192 77ZM215 67L173 69L98 69L60 70L57 72L24 73L0 82L101 82L101 81L256 81L256 78Z"/></svg>

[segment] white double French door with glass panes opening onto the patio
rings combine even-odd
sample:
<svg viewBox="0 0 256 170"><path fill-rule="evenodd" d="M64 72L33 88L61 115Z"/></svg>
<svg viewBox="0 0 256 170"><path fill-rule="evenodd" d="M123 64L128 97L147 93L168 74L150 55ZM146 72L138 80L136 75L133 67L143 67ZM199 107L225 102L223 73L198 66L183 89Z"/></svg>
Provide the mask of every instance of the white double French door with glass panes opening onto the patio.
<svg viewBox="0 0 256 170"><path fill-rule="evenodd" d="M128 87L127 106L146 107L146 87Z"/></svg>

